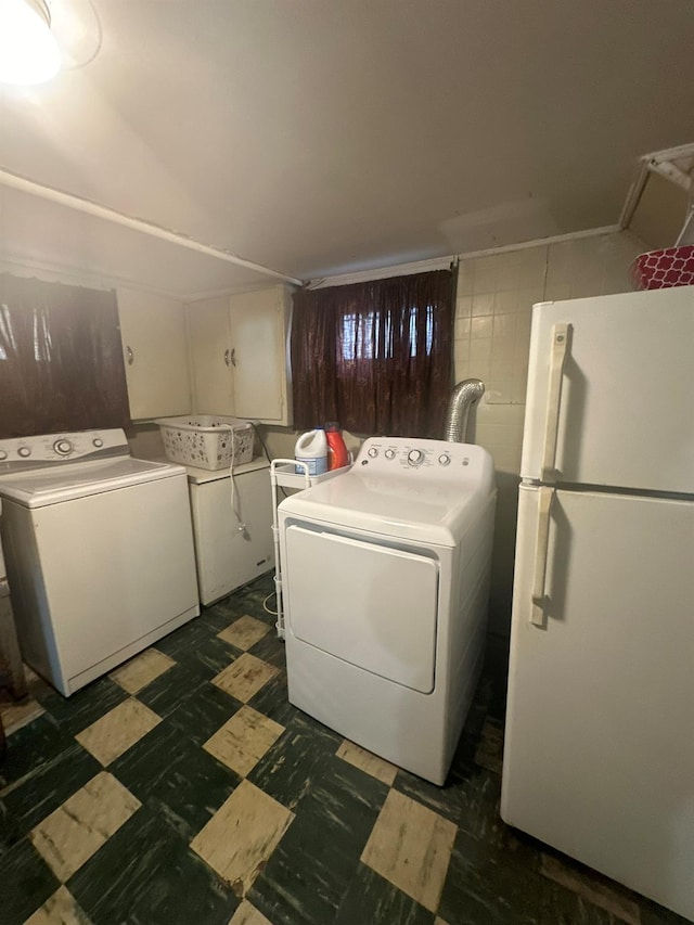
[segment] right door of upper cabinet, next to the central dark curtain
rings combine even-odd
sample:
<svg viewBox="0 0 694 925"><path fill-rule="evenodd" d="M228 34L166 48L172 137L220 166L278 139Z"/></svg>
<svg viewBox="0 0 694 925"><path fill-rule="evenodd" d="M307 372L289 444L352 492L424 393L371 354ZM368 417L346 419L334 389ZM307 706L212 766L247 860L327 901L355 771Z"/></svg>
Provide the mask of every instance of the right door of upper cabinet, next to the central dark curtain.
<svg viewBox="0 0 694 925"><path fill-rule="evenodd" d="M286 286L231 296L231 356L237 417L291 423L286 357L290 305Z"/></svg>

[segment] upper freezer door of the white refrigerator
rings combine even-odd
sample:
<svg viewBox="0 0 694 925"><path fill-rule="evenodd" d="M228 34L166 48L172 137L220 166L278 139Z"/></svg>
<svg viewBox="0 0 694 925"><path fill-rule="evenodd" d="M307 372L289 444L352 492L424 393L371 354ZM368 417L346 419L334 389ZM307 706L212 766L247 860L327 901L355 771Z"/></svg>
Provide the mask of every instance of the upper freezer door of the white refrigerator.
<svg viewBox="0 0 694 925"><path fill-rule="evenodd" d="M694 286L536 306L523 477L694 492L693 344Z"/></svg>

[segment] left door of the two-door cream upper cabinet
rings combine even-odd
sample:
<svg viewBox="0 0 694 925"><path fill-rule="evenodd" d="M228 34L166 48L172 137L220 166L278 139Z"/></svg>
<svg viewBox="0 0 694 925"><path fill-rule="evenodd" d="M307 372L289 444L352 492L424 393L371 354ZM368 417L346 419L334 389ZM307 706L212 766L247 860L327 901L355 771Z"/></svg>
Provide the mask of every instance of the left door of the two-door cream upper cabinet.
<svg viewBox="0 0 694 925"><path fill-rule="evenodd" d="M194 410L198 414L233 414L228 297L191 303L188 334Z"/></svg>

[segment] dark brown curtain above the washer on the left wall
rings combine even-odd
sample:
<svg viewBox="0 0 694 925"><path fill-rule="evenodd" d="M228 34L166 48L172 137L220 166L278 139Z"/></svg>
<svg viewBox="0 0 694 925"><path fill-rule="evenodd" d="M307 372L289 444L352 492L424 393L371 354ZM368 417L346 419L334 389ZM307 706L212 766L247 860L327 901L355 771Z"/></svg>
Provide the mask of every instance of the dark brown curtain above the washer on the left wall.
<svg viewBox="0 0 694 925"><path fill-rule="evenodd" d="M0 438L129 422L115 293L0 273Z"/></svg>

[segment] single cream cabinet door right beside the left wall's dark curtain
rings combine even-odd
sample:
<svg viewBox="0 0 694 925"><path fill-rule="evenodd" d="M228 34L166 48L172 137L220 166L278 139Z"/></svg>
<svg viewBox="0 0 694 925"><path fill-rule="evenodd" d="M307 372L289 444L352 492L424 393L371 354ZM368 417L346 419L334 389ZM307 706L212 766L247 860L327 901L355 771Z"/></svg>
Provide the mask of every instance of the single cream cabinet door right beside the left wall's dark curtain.
<svg viewBox="0 0 694 925"><path fill-rule="evenodd" d="M188 371L183 305L136 290L119 288L118 316L133 420L188 414Z"/></svg>

